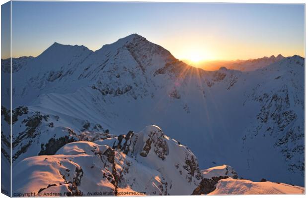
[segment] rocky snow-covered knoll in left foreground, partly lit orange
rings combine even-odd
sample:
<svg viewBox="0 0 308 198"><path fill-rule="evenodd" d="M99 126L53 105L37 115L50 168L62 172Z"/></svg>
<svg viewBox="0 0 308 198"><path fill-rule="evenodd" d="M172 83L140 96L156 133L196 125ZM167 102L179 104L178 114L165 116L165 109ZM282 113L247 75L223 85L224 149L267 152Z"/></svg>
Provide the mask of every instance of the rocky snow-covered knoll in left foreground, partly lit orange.
<svg viewBox="0 0 308 198"><path fill-rule="evenodd" d="M140 152L152 135L157 140L153 139L148 155L142 156ZM77 189L83 195L127 190L147 195L190 195L198 186L202 178L198 161L185 146L164 136L156 126L148 126L133 137L136 139L132 141L137 141L130 145L132 151L128 154L104 145L103 141L97 144L81 141L65 145L55 155L28 157L13 169L13 192L43 189L40 191L43 196L47 192L76 193L76 189L72 190L76 178L80 182ZM158 139L167 148L164 158L157 155ZM114 154L105 154L107 149ZM110 161L110 156L114 161ZM196 163L196 167L187 164L187 160Z"/></svg>

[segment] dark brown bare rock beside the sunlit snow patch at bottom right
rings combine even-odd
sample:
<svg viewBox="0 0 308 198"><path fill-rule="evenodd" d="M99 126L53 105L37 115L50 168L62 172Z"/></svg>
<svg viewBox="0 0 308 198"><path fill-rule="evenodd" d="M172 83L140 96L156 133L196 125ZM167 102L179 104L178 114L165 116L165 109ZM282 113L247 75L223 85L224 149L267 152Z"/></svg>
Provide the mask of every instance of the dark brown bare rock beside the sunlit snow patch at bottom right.
<svg viewBox="0 0 308 198"><path fill-rule="evenodd" d="M199 186L193 191L192 195L207 195L215 191L215 185L221 179L227 179L228 176L212 177L212 179L203 178Z"/></svg>

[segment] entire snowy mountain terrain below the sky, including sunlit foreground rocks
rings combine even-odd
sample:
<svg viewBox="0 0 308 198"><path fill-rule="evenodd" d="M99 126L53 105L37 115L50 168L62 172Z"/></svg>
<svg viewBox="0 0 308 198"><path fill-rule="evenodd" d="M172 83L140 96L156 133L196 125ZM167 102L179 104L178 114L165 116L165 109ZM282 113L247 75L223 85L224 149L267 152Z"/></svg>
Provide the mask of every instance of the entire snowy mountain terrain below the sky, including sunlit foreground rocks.
<svg viewBox="0 0 308 198"><path fill-rule="evenodd" d="M96 51L54 43L14 59L13 192L303 193L272 182L305 183L305 59L248 62L205 71L137 34ZM7 168L9 71L2 60Z"/></svg>

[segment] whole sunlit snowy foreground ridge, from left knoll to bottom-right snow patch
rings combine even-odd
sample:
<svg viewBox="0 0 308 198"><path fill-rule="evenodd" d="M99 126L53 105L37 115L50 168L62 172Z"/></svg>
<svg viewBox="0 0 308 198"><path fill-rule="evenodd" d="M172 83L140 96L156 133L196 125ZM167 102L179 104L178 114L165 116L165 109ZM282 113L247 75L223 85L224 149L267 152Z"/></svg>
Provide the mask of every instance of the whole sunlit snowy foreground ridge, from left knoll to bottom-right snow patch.
<svg viewBox="0 0 308 198"><path fill-rule="evenodd" d="M101 134L87 132L82 137L94 141L93 135ZM223 178L212 183L210 194L304 193L303 187L232 179L237 174L227 165L201 174L196 156L153 125L139 133L130 131L127 135L100 137L94 142L69 143L54 155L28 157L13 168L13 192L54 197L121 192L191 195L200 187L208 189L209 183L203 186L202 181L211 183L215 177Z"/></svg>

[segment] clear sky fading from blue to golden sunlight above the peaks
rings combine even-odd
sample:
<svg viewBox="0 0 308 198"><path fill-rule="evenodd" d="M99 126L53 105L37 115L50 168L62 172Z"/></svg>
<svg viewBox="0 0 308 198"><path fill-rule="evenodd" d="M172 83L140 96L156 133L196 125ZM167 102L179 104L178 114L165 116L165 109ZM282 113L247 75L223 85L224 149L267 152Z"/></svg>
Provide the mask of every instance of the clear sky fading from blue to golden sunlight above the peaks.
<svg viewBox="0 0 308 198"><path fill-rule="evenodd" d="M305 56L305 5L12 2L12 57L54 42L97 50L133 33L182 60Z"/></svg>

